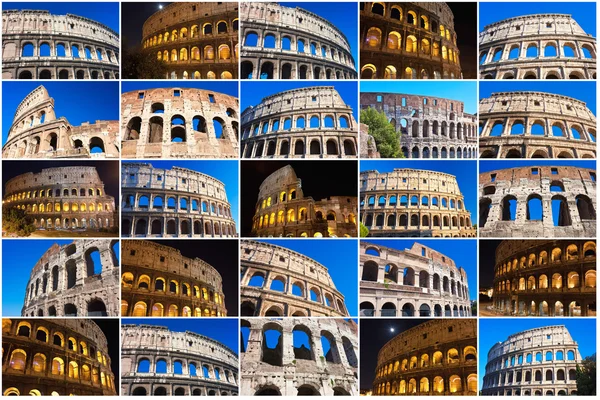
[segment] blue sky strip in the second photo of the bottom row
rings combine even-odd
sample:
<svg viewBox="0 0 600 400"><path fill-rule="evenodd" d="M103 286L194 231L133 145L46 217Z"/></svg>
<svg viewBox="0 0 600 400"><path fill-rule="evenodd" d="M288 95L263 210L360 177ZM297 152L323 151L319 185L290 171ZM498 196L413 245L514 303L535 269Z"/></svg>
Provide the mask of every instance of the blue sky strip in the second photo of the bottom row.
<svg viewBox="0 0 600 400"><path fill-rule="evenodd" d="M164 326L173 332L198 333L239 354L237 318L123 318L121 324Z"/></svg>

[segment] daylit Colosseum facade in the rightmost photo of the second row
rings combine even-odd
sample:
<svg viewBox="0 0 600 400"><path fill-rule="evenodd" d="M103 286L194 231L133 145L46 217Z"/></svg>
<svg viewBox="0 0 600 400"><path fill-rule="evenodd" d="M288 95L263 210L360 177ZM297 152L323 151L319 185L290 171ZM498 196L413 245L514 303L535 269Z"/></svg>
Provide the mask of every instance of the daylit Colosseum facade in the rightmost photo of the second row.
<svg viewBox="0 0 600 400"><path fill-rule="evenodd" d="M479 101L480 158L596 158L596 116L552 93L492 93Z"/></svg>

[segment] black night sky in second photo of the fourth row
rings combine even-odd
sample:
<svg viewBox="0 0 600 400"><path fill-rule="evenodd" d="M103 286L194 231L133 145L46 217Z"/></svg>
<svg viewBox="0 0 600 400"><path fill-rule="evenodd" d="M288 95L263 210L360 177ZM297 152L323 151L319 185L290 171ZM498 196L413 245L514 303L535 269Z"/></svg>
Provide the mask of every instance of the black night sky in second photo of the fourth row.
<svg viewBox="0 0 600 400"><path fill-rule="evenodd" d="M185 257L206 261L223 278L227 316L238 315L238 245L237 240L150 240L173 247Z"/></svg>

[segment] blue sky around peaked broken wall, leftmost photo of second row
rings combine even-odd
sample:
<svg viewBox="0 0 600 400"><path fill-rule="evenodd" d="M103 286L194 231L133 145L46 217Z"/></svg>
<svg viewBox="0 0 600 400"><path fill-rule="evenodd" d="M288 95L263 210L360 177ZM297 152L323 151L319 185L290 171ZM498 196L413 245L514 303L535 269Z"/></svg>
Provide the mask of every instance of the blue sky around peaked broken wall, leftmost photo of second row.
<svg viewBox="0 0 600 400"><path fill-rule="evenodd" d="M17 107L40 85L54 99L56 118L66 117L71 125L119 120L119 82L2 82L2 144Z"/></svg>

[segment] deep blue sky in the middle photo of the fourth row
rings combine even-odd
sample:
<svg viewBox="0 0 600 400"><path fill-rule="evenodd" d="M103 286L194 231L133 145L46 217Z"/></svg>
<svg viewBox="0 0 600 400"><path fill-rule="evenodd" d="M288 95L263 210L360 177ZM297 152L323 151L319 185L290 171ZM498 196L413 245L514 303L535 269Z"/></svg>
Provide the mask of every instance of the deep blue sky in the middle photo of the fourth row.
<svg viewBox="0 0 600 400"><path fill-rule="evenodd" d="M329 271L351 317L358 314L358 244L356 240L263 240L297 251L323 264Z"/></svg>

